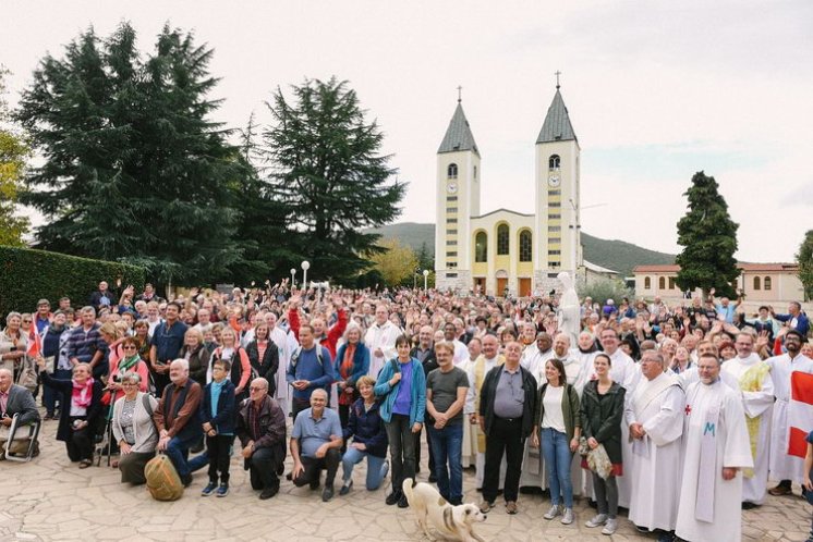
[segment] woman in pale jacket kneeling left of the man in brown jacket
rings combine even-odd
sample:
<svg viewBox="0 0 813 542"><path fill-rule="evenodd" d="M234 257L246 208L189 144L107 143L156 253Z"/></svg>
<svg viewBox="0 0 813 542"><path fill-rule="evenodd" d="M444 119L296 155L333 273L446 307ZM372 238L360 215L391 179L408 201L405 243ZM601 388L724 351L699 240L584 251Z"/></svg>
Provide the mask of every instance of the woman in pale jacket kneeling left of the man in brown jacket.
<svg viewBox="0 0 813 542"><path fill-rule="evenodd" d="M135 346L124 342L125 346ZM146 372L146 364L141 362ZM138 485L146 482L144 467L155 456L158 431L153 423L153 412L158 401L144 393L146 374L125 372L120 378L124 394L113 405L113 438L119 443L121 482Z"/></svg>

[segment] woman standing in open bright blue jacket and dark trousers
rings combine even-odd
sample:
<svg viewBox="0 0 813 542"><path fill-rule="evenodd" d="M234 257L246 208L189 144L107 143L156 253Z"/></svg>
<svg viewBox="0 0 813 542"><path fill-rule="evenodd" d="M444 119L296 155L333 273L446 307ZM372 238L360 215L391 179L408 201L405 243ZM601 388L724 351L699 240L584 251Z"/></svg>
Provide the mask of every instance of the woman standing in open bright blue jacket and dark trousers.
<svg viewBox="0 0 813 542"><path fill-rule="evenodd" d="M392 493L386 503L398 503L399 508L410 504L401 491L408 478L415 478L415 439L421 431L426 409L426 377L421 361L410 357L410 340L401 335L396 340L398 357L385 364L378 373L375 394L383 397L379 409L387 428L389 455L392 460Z"/></svg>

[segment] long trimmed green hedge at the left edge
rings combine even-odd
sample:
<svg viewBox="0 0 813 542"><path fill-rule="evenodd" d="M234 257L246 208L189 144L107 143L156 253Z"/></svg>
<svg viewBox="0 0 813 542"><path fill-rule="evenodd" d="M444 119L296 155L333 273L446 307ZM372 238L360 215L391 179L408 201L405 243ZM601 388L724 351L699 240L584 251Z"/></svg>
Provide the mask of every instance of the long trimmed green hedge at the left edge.
<svg viewBox="0 0 813 542"><path fill-rule="evenodd" d="M46 298L56 309L63 296L80 308L87 305L99 282L107 281L116 290L116 280L132 284L141 292L146 270L114 261L77 258L58 252L0 246L0 315L5 327L5 315L12 310L33 312L37 300Z"/></svg>

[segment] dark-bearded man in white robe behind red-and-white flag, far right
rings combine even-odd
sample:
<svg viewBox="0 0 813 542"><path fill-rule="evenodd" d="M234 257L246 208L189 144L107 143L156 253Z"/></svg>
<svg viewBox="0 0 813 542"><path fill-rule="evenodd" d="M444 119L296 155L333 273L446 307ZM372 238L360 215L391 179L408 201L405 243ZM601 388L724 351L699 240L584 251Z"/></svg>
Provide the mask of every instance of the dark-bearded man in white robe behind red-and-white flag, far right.
<svg viewBox="0 0 813 542"><path fill-rule="evenodd" d="M813 373L813 360L801 354L803 340L804 337L798 331L787 331L785 333L787 354L765 360L770 367L770 378L774 381L774 393L776 395L770 429L768 473L772 480L779 480L779 485L769 490L772 495L790 493L791 481L801 483L804 475L804 459L788 454L790 375L796 371Z"/></svg>

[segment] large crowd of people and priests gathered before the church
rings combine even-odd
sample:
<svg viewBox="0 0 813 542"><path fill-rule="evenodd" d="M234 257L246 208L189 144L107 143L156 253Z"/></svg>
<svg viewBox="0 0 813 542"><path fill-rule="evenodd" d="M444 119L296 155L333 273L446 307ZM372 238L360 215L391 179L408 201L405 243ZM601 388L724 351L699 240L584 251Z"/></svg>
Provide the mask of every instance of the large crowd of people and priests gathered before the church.
<svg viewBox="0 0 813 542"><path fill-rule="evenodd" d="M587 297L573 329L562 299L283 281L168 301L102 282L78 309L41 299L7 316L2 427L38 419L41 394L78 468L109 427L122 482L144 483L163 453L186 486L208 467L204 496L228 495L235 441L262 500L289 454L288 480L323 501L348 495L366 459L365 488L389 476L399 507L425 439L452 505L473 468L484 513L500 492L517 514L521 493L547 490L545 520L572 523L582 495L597 508L587 527L612 534L627 508L660 540L739 540L768 480L773 495L813 491L813 433L806 459L788 453L791 374L813 373L799 303L749 316L714 291L674 306Z"/></svg>

